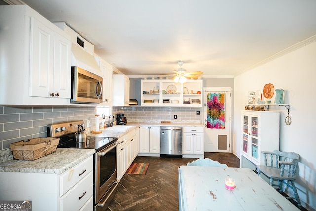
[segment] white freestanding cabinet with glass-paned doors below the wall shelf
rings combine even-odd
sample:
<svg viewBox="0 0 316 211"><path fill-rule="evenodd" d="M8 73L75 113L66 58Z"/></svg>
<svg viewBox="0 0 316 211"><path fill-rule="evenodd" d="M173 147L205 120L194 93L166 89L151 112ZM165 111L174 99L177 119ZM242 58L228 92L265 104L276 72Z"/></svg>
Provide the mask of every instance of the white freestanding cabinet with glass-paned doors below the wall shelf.
<svg viewBox="0 0 316 211"><path fill-rule="evenodd" d="M279 130L279 112L243 111L240 167L255 170L256 165L264 164L261 151L279 150Z"/></svg>

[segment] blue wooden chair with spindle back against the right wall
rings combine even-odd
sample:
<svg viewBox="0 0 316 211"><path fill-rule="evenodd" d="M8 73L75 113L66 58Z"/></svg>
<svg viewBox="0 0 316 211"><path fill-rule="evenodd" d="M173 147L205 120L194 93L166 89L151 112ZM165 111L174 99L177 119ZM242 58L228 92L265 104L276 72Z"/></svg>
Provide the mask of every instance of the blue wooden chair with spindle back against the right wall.
<svg viewBox="0 0 316 211"><path fill-rule="evenodd" d="M295 197L286 198L295 199L297 206L301 208L301 201L294 184L298 160L300 158L299 154L294 152L280 152L278 150L274 150L273 152L261 151L261 153L264 154L265 165L257 166L258 175L263 173L270 178L270 185L279 188L280 193L283 192L282 183L290 187ZM270 160L270 165L267 165L267 155L269 155L268 159ZM278 186L273 184L274 180L278 181Z"/></svg>

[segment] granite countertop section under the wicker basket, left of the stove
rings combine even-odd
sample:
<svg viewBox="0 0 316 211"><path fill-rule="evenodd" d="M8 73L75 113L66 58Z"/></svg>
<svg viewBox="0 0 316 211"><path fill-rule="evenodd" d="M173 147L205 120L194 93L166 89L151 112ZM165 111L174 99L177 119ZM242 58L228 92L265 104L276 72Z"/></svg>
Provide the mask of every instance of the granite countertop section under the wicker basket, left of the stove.
<svg viewBox="0 0 316 211"><path fill-rule="evenodd" d="M94 149L57 148L34 161L11 159L0 163L0 172L61 174L95 153Z"/></svg>

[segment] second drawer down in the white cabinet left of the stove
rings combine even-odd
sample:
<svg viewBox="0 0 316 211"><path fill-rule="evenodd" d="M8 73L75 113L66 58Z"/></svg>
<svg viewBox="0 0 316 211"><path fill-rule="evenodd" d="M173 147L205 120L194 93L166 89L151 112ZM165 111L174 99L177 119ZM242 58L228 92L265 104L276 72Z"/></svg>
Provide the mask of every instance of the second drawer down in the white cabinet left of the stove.
<svg viewBox="0 0 316 211"><path fill-rule="evenodd" d="M61 211L78 211L93 196L93 172L70 189L60 199ZM82 198L79 198L82 197Z"/></svg>

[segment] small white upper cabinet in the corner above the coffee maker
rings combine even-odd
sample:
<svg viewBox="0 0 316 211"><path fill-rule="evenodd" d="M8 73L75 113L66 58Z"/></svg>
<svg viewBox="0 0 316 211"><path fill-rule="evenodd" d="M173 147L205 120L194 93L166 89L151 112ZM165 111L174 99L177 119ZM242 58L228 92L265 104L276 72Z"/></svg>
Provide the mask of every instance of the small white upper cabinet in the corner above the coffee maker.
<svg viewBox="0 0 316 211"><path fill-rule="evenodd" d="M123 74L113 75L113 106L129 106L129 78Z"/></svg>

